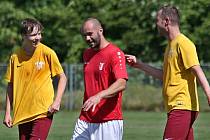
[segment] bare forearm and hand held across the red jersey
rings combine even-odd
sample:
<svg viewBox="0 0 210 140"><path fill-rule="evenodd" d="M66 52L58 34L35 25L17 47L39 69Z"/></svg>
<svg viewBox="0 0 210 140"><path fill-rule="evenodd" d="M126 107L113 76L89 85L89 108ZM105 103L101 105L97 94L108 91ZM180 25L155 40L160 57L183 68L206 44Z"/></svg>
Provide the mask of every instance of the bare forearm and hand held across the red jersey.
<svg viewBox="0 0 210 140"><path fill-rule="evenodd" d="M91 107L92 111L95 110L96 105L101 99L111 98L115 96L118 92L123 91L126 87L125 79L117 79L108 89L102 90L96 95L90 97L82 106L84 111L88 111Z"/></svg>

